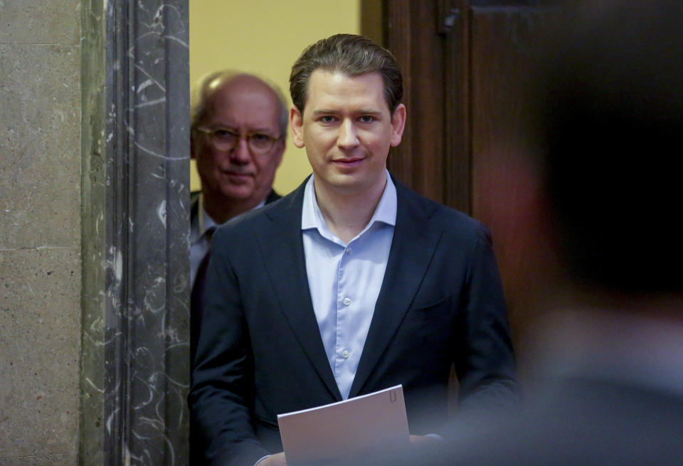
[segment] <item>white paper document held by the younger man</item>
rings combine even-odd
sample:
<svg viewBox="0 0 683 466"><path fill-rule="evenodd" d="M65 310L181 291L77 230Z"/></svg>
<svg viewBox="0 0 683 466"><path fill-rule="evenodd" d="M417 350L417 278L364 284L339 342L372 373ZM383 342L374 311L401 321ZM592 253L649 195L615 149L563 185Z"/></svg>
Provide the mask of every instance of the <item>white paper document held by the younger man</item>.
<svg viewBox="0 0 683 466"><path fill-rule="evenodd" d="M366 455L407 445L403 386L277 415L287 466L362 464Z"/></svg>

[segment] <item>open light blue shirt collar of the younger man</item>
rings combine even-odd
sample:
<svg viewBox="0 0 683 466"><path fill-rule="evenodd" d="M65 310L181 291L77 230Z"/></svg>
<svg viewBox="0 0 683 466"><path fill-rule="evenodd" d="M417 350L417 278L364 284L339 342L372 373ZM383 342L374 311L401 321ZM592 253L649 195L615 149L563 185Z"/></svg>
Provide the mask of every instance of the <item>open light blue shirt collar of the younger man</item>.
<svg viewBox="0 0 683 466"><path fill-rule="evenodd" d="M317 228L317 230L324 235L324 232L329 232L325 220L318 206L318 201L315 198L315 190L313 187L314 175L308 179L304 189L304 205L301 215L301 229L308 230ZM384 192L379 199L379 203L375 208L370 221L363 229L366 231L375 222L386 223L387 225L396 226L396 185L393 184L389 171L386 171L386 186ZM361 232L361 234L363 234ZM330 233L331 234L331 233Z"/></svg>

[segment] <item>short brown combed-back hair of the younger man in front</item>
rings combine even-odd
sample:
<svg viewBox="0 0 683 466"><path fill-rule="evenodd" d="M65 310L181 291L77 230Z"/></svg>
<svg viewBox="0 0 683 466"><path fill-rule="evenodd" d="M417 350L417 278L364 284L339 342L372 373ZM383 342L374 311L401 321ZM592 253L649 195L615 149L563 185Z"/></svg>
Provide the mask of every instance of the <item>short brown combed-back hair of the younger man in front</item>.
<svg viewBox="0 0 683 466"><path fill-rule="evenodd" d="M350 76L379 73L384 83L384 98L392 114L403 98L401 68L390 51L364 36L335 34L307 47L292 66L290 93L292 102L302 114L308 81L317 69Z"/></svg>

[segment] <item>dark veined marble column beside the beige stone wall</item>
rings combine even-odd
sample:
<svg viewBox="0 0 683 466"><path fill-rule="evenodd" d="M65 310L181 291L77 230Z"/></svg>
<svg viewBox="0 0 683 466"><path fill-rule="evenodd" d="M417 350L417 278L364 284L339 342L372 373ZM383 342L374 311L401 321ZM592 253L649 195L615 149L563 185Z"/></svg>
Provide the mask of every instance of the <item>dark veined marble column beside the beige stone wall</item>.
<svg viewBox="0 0 683 466"><path fill-rule="evenodd" d="M81 465L184 465L187 0L85 1Z"/></svg>

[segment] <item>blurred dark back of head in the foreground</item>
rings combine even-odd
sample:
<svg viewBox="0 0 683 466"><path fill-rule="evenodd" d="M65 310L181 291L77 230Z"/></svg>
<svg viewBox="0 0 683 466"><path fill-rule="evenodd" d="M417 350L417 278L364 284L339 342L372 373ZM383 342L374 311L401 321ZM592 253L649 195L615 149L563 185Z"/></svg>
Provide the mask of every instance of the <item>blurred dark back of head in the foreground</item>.
<svg viewBox="0 0 683 466"><path fill-rule="evenodd" d="M568 13L536 87L566 265L610 290L681 292L683 4L592 3Z"/></svg>

